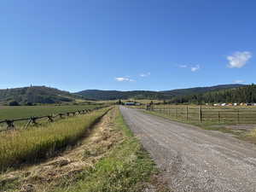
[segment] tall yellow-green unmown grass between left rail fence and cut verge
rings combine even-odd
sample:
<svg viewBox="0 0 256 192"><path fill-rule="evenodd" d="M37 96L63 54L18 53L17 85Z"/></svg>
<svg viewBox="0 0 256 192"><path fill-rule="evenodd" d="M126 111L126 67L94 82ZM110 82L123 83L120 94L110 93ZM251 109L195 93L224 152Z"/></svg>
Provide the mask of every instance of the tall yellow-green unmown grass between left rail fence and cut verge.
<svg viewBox="0 0 256 192"><path fill-rule="evenodd" d="M0 170L36 161L83 137L108 108L24 131L0 133Z"/></svg>

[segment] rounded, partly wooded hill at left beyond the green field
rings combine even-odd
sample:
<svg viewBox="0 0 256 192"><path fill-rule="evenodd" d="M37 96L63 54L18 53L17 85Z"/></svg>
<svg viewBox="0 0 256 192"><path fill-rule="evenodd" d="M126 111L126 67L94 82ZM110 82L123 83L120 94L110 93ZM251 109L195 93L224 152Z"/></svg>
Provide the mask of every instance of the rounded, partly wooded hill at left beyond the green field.
<svg viewBox="0 0 256 192"><path fill-rule="evenodd" d="M0 103L18 102L20 104L73 102L75 96L64 90L46 86L32 86L0 90Z"/></svg>

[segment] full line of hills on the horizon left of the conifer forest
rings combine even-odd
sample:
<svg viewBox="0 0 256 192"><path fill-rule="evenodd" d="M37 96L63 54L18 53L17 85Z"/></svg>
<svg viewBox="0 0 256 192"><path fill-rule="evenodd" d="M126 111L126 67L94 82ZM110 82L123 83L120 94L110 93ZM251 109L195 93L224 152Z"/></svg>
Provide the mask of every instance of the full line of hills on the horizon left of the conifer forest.
<svg viewBox="0 0 256 192"><path fill-rule="evenodd" d="M0 90L0 104L8 104L9 102L17 102L24 104L50 104L62 102L74 102L77 99L107 101L117 99L159 99L169 100L175 96L189 96L191 94L206 93L215 90L229 90L245 86L244 84L220 84L209 87L195 87L189 89L178 90L82 90L76 93L71 93L64 90L58 90L46 86L30 86L14 89Z"/></svg>

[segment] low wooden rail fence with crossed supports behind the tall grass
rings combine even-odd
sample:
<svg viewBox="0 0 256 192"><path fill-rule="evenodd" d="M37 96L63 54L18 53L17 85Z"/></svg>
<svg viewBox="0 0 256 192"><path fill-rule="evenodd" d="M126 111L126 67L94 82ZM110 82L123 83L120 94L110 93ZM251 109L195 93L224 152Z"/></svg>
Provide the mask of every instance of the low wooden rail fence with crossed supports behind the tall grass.
<svg viewBox="0 0 256 192"><path fill-rule="evenodd" d="M49 114L49 115L44 115L44 116L31 116L28 118L19 118L19 119L4 119L4 120L0 120L0 125L2 124L6 124L6 128L1 131L9 131L9 130L15 130L15 122L19 122L19 121L27 121L26 125L25 125L25 129L29 126L29 125L38 125L38 120L39 119L47 119L48 122L54 122L54 120L56 118L64 118L66 117L70 117L75 116L76 114L84 114L84 113L90 113L94 110L100 109L100 108L106 108L106 107L96 107L93 109L90 108L86 108L86 109L82 109L82 110L77 110L77 111L72 111L72 112L66 112L66 113L57 113L57 114ZM0 126L1 127L1 126Z"/></svg>

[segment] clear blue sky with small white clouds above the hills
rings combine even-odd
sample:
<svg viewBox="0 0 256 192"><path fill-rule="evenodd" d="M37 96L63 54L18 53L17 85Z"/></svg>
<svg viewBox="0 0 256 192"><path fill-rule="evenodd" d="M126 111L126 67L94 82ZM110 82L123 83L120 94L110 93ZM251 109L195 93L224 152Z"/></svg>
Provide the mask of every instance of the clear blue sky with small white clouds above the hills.
<svg viewBox="0 0 256 192"><path fill-rule="evenodd" d="M3 0L0 89L255 82L253 0Z"/></svg>

